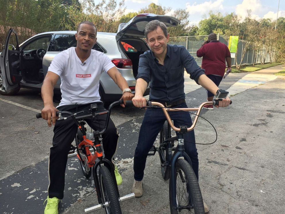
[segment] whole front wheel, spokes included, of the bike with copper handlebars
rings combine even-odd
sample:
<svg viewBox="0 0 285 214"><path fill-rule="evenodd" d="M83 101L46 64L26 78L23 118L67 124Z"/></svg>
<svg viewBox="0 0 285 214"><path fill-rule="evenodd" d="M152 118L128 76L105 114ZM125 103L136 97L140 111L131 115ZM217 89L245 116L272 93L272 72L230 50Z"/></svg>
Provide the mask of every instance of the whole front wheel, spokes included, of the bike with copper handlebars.
<svg viewBox="0 0 285 214"><path fill-rule="evenodd" d="M190 164L178 159L175 166L175 180L169 181L169 200L171 214L195 213L204 214L204 204L196 175ZM172 182L176 184L176 204L172 204Z"/></svg>

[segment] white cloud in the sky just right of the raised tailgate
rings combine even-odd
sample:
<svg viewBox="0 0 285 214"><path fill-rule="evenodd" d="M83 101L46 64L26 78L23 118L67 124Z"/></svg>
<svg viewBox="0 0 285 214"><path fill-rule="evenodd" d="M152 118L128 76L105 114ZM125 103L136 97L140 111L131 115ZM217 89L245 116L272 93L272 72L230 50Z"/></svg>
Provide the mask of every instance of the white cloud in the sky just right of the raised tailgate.
<svg viewBox="0 0 285 214"><path fill-rule="evenodd" d="M223 1L224 0L217 0L217 1L205 1L204 3L197 4L197 2L194 2L194 4L186 3L186 10L189 12L190 16L193 14L208 14L210 10L217 11L217 10L223 10Z"/></svg>

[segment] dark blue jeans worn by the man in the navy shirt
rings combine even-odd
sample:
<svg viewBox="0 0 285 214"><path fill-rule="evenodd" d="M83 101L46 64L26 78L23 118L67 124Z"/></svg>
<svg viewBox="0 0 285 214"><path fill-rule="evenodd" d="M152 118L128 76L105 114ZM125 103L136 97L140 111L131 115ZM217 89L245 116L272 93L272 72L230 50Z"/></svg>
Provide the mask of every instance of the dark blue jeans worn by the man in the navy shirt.
<svg viewBox="0 0 285 214"><path fill-rule="evenodd" d="M182 103L177 106L171 106L172 108L187 108L186 103ZM190 127L192 120L188 112L174 111L169 112L171 119L174 121L174 125L179 127L185 125ZM148 108L145 112L143 123L140 127L140 133L138 136L138 144L134 153L134 179L141 181L143 179L145 164L147 160L147 153L153 146L153 143L163 127L166 118L161 109ZM191 143L192 142L192 143ZM195 143L194 130L184 134L184 149L192 161L192 167L198 179L198 152Z"/></svg>

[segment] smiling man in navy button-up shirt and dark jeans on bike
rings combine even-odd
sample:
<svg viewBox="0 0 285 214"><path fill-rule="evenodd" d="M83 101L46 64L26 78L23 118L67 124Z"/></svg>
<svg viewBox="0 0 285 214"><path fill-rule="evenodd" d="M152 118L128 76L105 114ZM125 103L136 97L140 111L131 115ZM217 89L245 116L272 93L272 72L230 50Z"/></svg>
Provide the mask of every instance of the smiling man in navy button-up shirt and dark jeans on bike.
<svg viewBox="0 0 285 214"><path fill-rule="evenodd" d="M149 51L140 55L138 75L136 79L136 93L132 99L136 107L146 106L143 97L148 83L150 83L149 100L164 103L171 108L187 108L184 93L184 68L197 84L202 85L212 93L219 89L199 68L194 58L185 47L179 45L168 45L169 34L163 22L153 20L145 28L145 37L149 45ZM226 98L219 102L217 107L225 107L230 104ZM187 112L170 112L174 125L192 125L190 114ZM144 175L147 153L163 127L165 115L161 109L148 108L145 112L143 123L140 128L138 145L134 154L134 185L132 192L136 197L143 195L142 179ZM147 133L147 134L146 134ZM194 131L184 135L185 151L192 161L193 170L198 179L198 153L195 143ZM209 209L206 204L205 212Z"/></svg>

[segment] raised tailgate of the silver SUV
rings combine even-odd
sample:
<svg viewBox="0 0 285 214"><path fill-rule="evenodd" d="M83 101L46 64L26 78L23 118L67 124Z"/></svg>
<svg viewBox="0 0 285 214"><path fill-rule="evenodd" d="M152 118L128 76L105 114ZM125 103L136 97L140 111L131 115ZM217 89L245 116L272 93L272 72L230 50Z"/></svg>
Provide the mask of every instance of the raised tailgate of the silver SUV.
<svg viewBox="0 0 285 214"><path fill-rule="evenodd" d="M117 31L117 41L119 41L124 35L145 37L145 26L152 20L159 20L163 22L167 27L177 26L180 21L171 16L156 15L156 14L139 14L132 18L128 23L121 23Z"/></svg>

